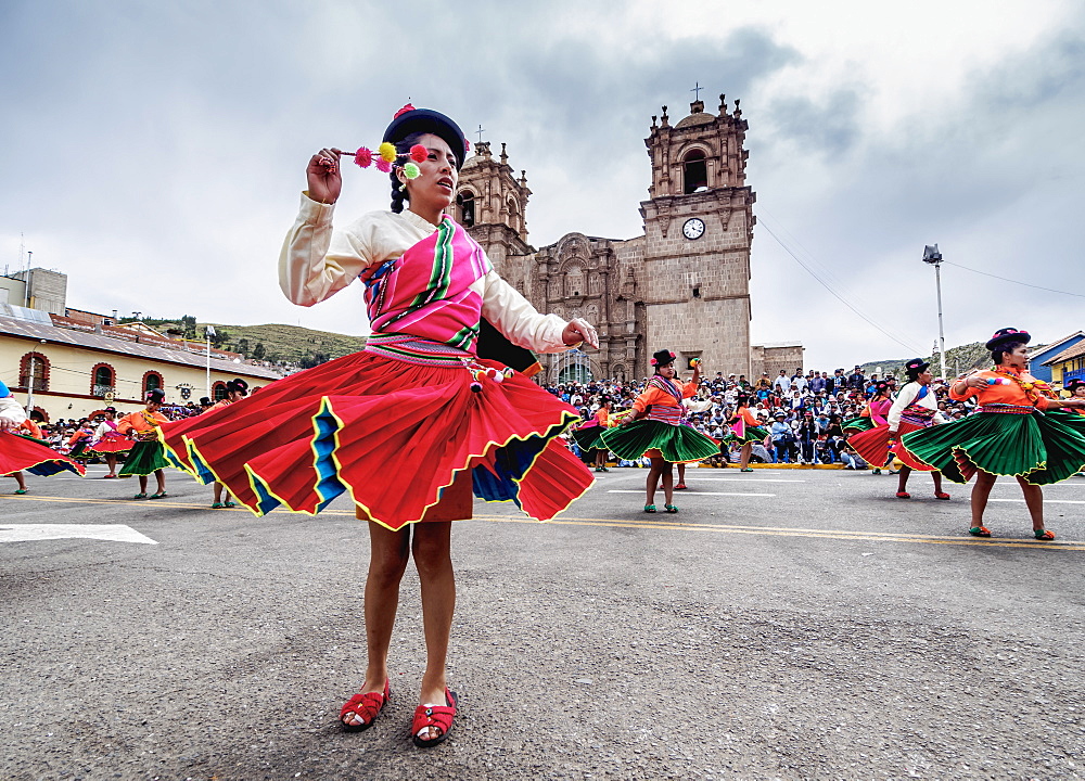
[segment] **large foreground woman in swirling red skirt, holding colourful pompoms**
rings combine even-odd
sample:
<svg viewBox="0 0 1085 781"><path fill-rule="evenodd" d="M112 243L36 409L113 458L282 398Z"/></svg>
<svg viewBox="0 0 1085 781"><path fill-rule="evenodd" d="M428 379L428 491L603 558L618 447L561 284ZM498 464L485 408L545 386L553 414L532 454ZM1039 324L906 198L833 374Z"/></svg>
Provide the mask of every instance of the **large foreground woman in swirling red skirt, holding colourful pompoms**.
<svg viewBox="0 0 1085 781"><path fill-rule="evenodd" d="M508 368L512 358L481 357L490 348L480 332L492 325L508 343L490 354L518 359L522 348L597 347L598 337L583 320L538 313L444 214L468 146L456 123L405 106L384 142L378 165L391 174L392 210L333 232L342 152L323 149L309 159L308 191L280 257L280 285L302 306L361 279L373 331L366 349L164 432L178 463L221 482L254 512L284 504L316 513L347 492L368 521L368 666L340 714L346 729L369 728L388 700L399 582L413 556L426 667L411 737L432 746L456 714L445 677L456 603L451 522L471 517L472 489L546 520L592 482L559 440L576 410ZM374 154L360 149L355 162L367 167Z"/></svg>

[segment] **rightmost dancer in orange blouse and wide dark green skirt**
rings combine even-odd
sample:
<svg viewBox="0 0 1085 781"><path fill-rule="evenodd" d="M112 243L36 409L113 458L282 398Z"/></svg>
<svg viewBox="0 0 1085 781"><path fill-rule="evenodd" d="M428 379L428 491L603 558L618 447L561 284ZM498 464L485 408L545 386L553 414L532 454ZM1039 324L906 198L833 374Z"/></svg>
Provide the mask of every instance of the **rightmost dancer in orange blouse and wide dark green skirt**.
<svg viewBox="0 0 1085 781"><path fill-rule="evenodd" d="M995 366L949 386L955 400L975 398L978 411L945 425L905 434L911 453L955 483L972 488L974 537L990 537L983 525L991 488L999 475L1017 477L1036 539L1055 539L1044 528L1041 486L1059 483L1085 464L1085 417L1061 411L1085 409L1085 398L1059 399L1050 385L1029 373L1025 331L1000 329L986 344Z"/></svg>

